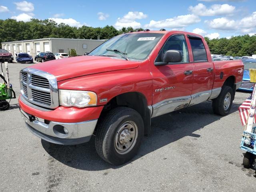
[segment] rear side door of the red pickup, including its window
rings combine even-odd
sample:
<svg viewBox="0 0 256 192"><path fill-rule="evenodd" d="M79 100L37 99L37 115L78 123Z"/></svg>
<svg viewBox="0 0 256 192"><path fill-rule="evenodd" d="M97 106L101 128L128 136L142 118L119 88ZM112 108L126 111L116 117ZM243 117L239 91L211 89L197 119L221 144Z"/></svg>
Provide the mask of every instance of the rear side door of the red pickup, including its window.
<svg viewBox="0 0 256 192"><path fill-rule="evenodd" d="M212 93L214 82L214 65L207 56L207 44L199 36L188 35L193 54L194 83L190 105L208 100Z"/></svg>

